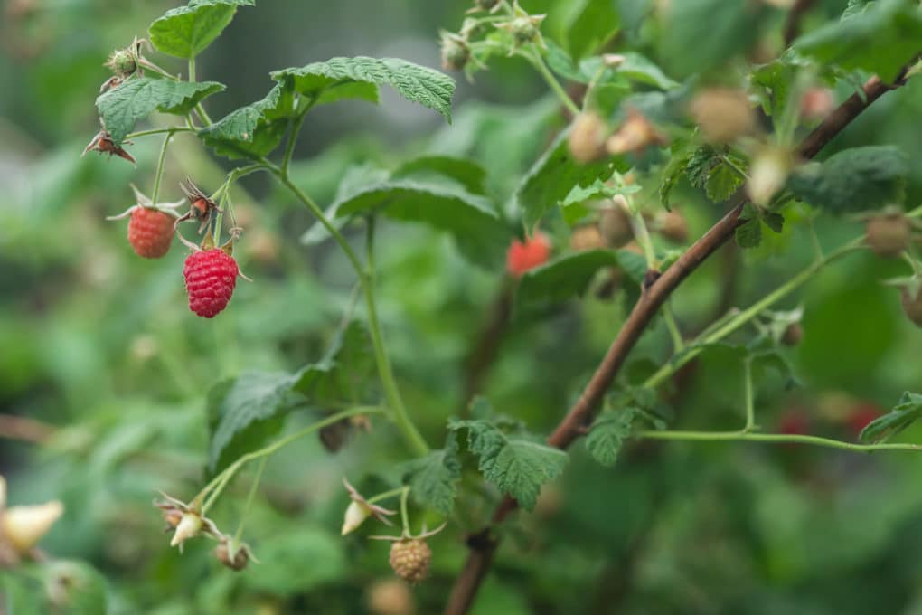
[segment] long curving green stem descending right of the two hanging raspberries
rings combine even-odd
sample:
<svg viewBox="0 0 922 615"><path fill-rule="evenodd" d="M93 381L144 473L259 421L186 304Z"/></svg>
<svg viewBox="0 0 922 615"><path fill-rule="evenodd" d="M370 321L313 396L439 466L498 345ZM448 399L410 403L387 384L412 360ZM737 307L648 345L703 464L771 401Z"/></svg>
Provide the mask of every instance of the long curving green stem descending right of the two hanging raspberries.
<svg viewBox="0 0 922 615"><path fill-rule="evenodd" d="M400 430L400 432L403 433L403 436L407 440L407 443L410 445L410 447L420 456L428 454L429 446L426 444L426 441L422 439L420 432L416 429L416 425L414 425L413 421L409 419L407 408L404 407L403 399L400 396L400 391L397 389L394 373L391 369L391 363L388 360L387 353L384 349L384 339L381 335L381 326L378 323L377 306L374 302L373 266L371 262L372 254L369 254L370 266L369 270L366 271L365 268L361 265L359 256L355 254L355 251L352 249L352 246L349 245L349 242L346 241L346 238L343 237L343 234L337 230L333 223L326 218L320 206L314 203L310 196L305 195L301 191L301 188L292 183L291 180L282 172L281 169L278 168L277 165L269 162L268 160L263 160L263 163L266 164L266 168L269 171L272 171L272 173L278 177L278 181L283 183L305 207L311 210L313 215L320 221L326 231L328 231L333 236L333 239L339 244L339 247L342 248L343 252L346 253L347 258L349 258L349 263L352 264L356 274L359 276L361 290L365 295L365 304L368 310L368 327L372 335L374 357L378 365L378 374L381 378L381 384L384 385L384 393L387 396L387 402L390 404L391 411L393 412L392 418L394 419L397 428Z"/></svg>

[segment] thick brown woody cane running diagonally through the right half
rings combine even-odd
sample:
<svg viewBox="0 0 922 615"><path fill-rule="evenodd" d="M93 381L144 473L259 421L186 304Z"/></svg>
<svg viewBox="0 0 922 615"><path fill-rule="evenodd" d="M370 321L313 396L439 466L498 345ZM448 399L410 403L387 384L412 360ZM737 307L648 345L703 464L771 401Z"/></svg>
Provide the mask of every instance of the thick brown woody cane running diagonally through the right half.
<svg viewBox="0 0 922 615"><path fill-rule="evenodd" d="M822 124L817 126L807 136L798 148L798 154L805 159L810 159L838 135L846 125L852 122L869 105L877 101L883 94L904 85L904 75L908 67L904 68L900 77L892 85L881 82L878 77L871 77L863 87L862 94L853 94L837 109L835 109ZM550 434L548 444L565 449L584 431L584 427L591 423L599 405L621 370L627 359L628 353L640 339L641 335L656 312L676 290L681 282L692 271L700 266L705 259L721 245L733 237L734 231L743 223L739 216L746 204L745 195L739 191L732 199L734 206L722 219L719 219L703 237L691 245L666 272L656 279L649 289L641 295L634 304L618 337L612 342L609 351L599 364L583 394L567 412L566 416ZM499 524L505 517L517 508L518 504L509 496L503 498L492 516L492 523ZM498 545L498 540L492 535L488 527L474 535L477 540L468 539L470 552L465 566L455 581L455 587L448 598L445 607L446 615L464 615L474 602L479 585L490 567L493 553Z"/></svg>

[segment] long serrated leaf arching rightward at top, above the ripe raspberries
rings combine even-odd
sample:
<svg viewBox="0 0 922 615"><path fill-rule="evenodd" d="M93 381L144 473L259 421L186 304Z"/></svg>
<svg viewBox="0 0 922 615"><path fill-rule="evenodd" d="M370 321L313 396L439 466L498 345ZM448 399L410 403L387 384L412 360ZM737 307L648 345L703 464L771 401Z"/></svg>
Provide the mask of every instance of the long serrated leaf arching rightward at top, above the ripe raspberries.
<svg viewBox="0 0 922 615"><path fill-rule="evenodd" d="M452 120L455 80L437 70L398 58L337 57L301 68L272 73L278 81L292 80L294 89L317 103L348 98L378 101L378 87L391 86L405 99L419 102Z"/></svg>

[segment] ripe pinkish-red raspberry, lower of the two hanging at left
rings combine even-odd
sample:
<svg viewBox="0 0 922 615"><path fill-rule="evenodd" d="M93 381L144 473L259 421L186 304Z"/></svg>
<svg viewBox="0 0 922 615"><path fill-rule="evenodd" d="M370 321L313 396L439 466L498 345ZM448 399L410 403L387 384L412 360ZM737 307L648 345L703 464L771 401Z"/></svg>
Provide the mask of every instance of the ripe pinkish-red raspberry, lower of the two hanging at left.
<svg viewBox="0 0 922 615"><path fill-rule="evenodd" d="M239 273L233 256L220 248L189 254L183 266L189 309L214 318L231 301Z"/></svg>

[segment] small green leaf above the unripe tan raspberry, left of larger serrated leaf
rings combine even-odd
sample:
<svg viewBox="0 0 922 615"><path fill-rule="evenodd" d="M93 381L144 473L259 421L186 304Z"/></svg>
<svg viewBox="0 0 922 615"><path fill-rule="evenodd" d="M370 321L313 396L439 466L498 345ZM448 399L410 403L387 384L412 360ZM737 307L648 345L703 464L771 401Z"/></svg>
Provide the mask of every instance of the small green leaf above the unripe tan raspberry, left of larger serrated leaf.
<svg viewBox="0 0 922 615"><path fill-rule="evenodd" d="M452 513L457 482L461 479L461 462L457 452L457 436L455 432L449 432L443 449L409 463L404 481L409 484L414 502L446 516Z"/></svg>

